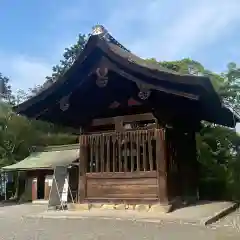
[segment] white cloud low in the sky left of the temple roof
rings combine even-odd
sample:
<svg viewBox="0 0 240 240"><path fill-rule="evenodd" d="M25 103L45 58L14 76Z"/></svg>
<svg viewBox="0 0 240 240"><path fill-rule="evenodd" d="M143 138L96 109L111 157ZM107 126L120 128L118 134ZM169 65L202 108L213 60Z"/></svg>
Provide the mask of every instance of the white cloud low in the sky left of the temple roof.
<svg viewBox="0 0 240 240"><path fill-rule="evenodd" d="M52 47L49 58L39 58L34 53L28 55L6 54L0 49L0 72L10 78L14 92L18 90L28 91L36 85L45 82L46 76L52 74L52 67L59 63L66 47L76 42L70 43L68 39L56 43Z"/></svg>

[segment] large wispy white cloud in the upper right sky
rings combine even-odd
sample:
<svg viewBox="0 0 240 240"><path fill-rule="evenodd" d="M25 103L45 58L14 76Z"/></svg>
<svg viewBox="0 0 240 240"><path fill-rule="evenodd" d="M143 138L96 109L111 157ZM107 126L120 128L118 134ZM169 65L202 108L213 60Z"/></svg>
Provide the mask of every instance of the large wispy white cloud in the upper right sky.
<svg viewBox="0 0 240 240"><path fill-rule="evenodd" d="M118 35L143 57L164 60L189 57L240 25L239 0L159 0L135 4L113 11L107 26L115 31L120 29ZM129 29L136 22L142 23L142 28ZM129 30L138 38L127 39L124 35Z"/></svg>

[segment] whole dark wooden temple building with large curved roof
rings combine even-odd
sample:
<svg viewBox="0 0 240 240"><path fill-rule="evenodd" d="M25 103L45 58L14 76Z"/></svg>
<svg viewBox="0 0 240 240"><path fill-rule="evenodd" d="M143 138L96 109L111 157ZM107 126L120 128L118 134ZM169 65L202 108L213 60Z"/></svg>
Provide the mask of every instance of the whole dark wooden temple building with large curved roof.
<svg viewBox="0 0 240 240"><path fill-rule="evenodd" d="M149 63L96 26L65 74L15 109L78 129L78 202L197 199L201 121L234 127L208 77Z"/></svg>

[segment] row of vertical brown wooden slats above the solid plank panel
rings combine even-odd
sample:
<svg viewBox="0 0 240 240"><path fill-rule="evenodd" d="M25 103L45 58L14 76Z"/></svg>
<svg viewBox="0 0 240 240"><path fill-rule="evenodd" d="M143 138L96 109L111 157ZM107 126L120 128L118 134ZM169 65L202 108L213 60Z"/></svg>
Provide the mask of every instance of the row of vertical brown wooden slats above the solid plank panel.
<svg viewBox="0 0 240 240"><path fill-rule="evenodd" d="M82 135L86 172L155 171L156 129Z"/></svg>

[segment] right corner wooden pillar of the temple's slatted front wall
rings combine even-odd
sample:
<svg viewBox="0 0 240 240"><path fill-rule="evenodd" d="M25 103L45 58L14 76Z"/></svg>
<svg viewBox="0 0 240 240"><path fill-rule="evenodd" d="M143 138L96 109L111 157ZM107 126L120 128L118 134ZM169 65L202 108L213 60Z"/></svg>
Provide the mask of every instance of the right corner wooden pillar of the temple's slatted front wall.
<svg viewBox="0 0 240 240"><path fill-rule="evenodd" d="M165 131L163 129L156 129L156 161L159 201L161 204L168 204L167 155Z"/></svg>

